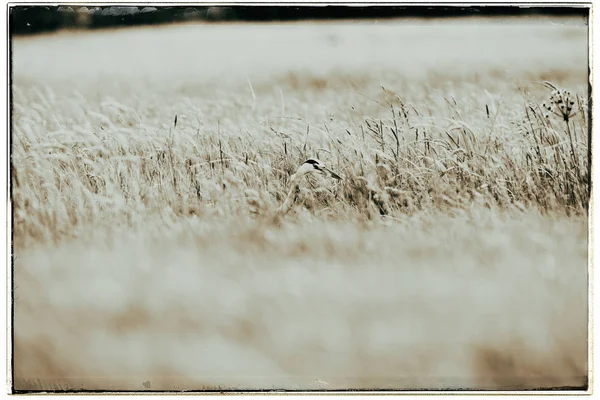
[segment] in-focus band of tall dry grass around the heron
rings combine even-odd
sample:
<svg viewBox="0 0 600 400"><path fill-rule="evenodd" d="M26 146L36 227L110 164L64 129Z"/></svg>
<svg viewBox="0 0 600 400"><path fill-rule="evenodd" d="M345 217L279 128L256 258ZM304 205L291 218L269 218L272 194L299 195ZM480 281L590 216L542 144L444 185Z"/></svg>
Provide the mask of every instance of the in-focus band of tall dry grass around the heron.
<svg viewBox="0 0 600 400"><path fill-rule="evenodd" d="M350 105L339 120L298 117L237 129L202 126L189 106L185 117L149 127L129 105L92 105L81 96L63 99L57 116L51 92L15 90L15 242L57 243L78 237L80 227L133 226L156 213L268 214L295 169L314 155L345 177L336 186L304 188L300 207L318 212L360 219L476 203L585 214L585 93L572 95L577 104L564 120L542 107L546 96L515 90L512 104L500 105L472 89L432 97L425 88L425 108L384 87L373 100L377 117ZM242 109L235 117L257 115ZM286 132L290 126L296 134Z"/></svg>

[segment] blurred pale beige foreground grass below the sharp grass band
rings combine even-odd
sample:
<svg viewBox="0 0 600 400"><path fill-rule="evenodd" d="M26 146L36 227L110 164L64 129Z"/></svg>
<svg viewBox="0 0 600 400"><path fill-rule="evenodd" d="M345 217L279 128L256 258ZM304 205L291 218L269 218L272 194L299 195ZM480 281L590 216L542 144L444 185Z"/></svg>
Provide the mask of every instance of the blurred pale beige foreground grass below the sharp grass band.
<svg viewBox="0 0 600 400"><path fill-rule="evenodd" d="M481 210L387 226L194 219L30 251L15 263L16 383L583 386L586 233L582 218Z"/></svg>

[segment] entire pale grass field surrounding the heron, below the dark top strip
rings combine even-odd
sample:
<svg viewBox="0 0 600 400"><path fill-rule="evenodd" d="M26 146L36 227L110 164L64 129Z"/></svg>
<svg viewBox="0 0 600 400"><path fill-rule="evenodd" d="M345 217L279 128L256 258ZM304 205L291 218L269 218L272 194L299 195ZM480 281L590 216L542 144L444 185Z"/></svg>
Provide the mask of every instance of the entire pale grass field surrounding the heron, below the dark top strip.
<svg viewBox="0 0 600 400"><path fill-rule="evenodd" d="M584 387L587 54L548 18L15 38L15 389ZM344 179L278 214L309 157Z"/></svg>

